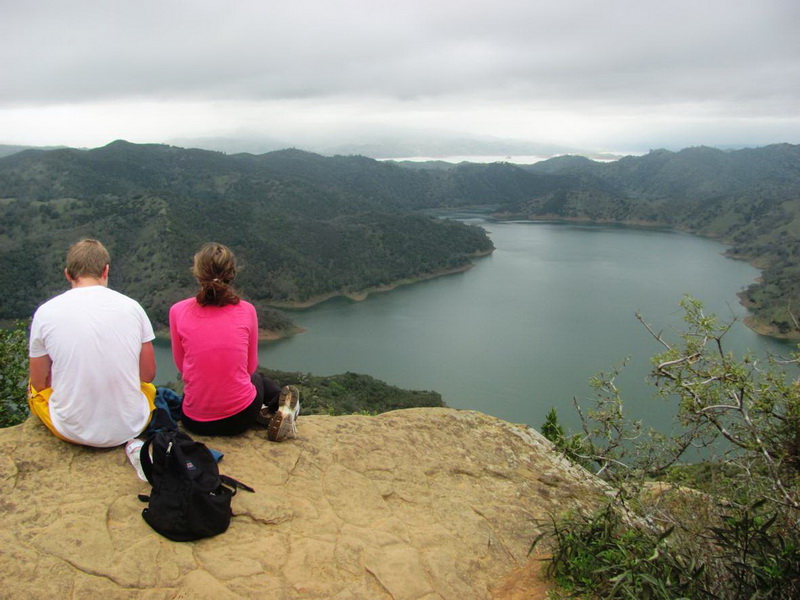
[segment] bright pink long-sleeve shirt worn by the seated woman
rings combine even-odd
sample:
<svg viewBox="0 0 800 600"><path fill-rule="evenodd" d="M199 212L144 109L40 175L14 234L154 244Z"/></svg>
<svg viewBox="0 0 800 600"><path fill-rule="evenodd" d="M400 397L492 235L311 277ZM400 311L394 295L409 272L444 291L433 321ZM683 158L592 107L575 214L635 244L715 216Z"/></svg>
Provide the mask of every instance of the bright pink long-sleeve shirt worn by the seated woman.
<svg viewBox="0 0 800 600"><path fill-rule="evenodd" d="M253 402L250 375L258 368L258 319L252 304L200 306L187 298L169 309L169 330L187 417L216 421Z"/></svg>

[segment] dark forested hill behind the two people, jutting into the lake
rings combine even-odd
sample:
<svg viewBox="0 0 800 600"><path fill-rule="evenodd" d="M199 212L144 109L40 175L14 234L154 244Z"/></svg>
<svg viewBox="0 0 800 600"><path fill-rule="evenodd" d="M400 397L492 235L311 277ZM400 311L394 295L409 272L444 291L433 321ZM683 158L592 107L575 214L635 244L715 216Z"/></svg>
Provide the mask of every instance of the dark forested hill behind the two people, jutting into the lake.
<svg viewBox="0 0 800 600"><path fill-rule="evenodd" d="M428 193L428 196L424 196ZM269 304L357 292L457 269L491 251L483 229L408 209L433 186L395 165L287 150L262 156L114 142L0 159L0 318L62 291L68 245L97 237L115 289L157 325L193 293L203 242L230 245L237 285L272 328Z"/></svg>

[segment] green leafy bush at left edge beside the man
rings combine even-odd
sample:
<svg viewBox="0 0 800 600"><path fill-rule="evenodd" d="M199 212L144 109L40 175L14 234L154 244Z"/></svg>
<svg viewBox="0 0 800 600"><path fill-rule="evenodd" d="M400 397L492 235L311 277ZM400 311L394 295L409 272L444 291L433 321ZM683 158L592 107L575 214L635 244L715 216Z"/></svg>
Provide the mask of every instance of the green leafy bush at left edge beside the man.
<svg viewBox="0 0 800 600"><path fill-rule="evenodd" d="M28 416L28 326L18 321L12 329L0 329L0 427Z"/></svg>

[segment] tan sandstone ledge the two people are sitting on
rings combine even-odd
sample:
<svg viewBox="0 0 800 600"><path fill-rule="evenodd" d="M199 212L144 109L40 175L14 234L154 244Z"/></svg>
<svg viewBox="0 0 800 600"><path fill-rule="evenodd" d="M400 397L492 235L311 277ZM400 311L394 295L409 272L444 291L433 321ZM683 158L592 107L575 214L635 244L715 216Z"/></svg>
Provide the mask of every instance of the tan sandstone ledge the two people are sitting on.
<svg viewBox="0 0 800 600"><path fill-rule="evenodd" d="M149 486L121 447L66 444L35 419L0 431L0 596L491 598L527 568L540 520L602 493L535 431L471 411L198 439L256 493L233 499L226 533L177 543L142 519Z"/></svg>

